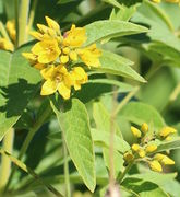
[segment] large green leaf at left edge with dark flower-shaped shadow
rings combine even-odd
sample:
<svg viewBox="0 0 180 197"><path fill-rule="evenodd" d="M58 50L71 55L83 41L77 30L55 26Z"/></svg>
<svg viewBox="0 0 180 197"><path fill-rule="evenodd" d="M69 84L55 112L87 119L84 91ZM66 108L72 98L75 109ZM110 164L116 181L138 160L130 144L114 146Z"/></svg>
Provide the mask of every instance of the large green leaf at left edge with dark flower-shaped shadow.
<svg viewBox="0 0 180 197"><path fill-rule="evenodd" d="M29 51L29 46L13 54L0 50L0 140L17 121L40 81L39 72L29 66L23 51Z"/></svg>

